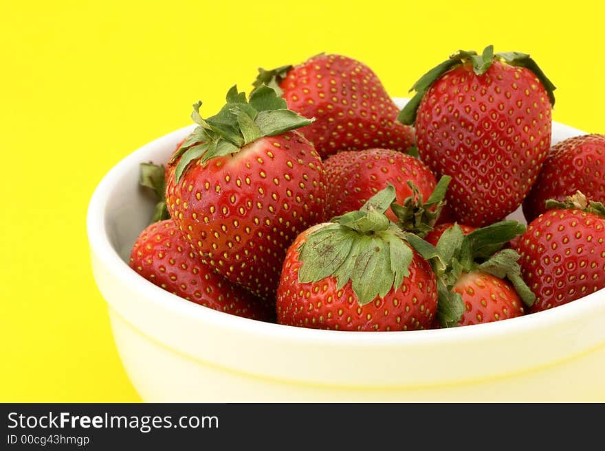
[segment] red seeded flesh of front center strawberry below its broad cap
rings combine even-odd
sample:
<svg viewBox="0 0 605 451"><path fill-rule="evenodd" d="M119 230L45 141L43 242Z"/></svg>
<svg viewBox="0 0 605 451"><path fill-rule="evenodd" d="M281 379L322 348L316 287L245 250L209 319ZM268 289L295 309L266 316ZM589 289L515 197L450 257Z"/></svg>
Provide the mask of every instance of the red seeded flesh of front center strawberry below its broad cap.
<svg viewBox="0 0 605 451"><path fill-rule="evenodd" d="M430 265L417 253L410 275L385 297L360 305L351 281L338 289L336 278L300 283L297 249L307 240L301 233L290 246L277 293L278 323L349 331L401 331L429 328L437 311L437 286Z"/></svg>

